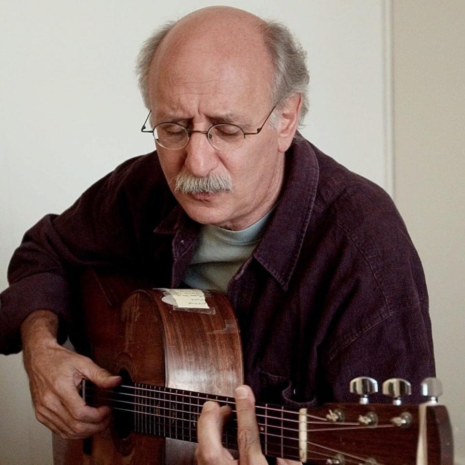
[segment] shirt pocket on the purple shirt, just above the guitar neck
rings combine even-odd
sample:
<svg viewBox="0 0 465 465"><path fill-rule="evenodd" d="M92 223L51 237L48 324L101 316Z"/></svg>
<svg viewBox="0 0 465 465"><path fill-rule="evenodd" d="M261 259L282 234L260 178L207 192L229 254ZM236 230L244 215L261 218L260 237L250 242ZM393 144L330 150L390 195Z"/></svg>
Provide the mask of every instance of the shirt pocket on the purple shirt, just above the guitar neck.
<svg viewBox="0 0 465 465"><path fill-rule="evenodd" d="M259 369L260 381L260 401L274 403L278 405L287 405L296 409L306 407L312 408L317 406L315 396L303 401L295 400L295 389L292 381L282 375L275 375L263 369Z"/></svg>

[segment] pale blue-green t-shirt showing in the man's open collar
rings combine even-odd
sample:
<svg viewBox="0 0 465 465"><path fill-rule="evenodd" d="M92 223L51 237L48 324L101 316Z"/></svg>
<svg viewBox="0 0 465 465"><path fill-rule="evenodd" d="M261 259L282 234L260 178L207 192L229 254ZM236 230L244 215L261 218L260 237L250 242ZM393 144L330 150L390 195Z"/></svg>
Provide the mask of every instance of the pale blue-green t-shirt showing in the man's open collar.
<svg viewBox="0 0 465 465"><path fill-rule="evenodd" d="M191 288L226 292L228 283L260 242L270 210L256 223L240 231L204 224L199 245L184 276Z"/></svg>

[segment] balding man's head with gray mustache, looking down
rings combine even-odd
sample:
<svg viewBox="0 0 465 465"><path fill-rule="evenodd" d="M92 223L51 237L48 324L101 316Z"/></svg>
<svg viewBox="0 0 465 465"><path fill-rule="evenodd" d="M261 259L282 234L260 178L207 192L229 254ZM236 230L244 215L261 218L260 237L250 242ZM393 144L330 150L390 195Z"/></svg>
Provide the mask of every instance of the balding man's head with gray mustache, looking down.
<svg viewBox="0 0 465 465"><path fill-rule="evenodd" d="M194 131L181 149L157 144L164 174L187 214L232 229L258 221L279 197L284 152L306 103L305 54L289 31L243 10L204 8L155 32L140 53L138 71L152 125L175 122ZM246 133L263 129L227 150L196 132L220 123ZM202 191L207 185L214 193Z"/></svg>

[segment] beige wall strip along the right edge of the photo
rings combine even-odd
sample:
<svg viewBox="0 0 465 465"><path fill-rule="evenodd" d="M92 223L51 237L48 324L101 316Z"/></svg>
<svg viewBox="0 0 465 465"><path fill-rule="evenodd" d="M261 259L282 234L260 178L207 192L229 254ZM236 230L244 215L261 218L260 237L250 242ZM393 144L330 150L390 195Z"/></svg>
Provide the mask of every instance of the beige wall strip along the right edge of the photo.
<svg viewBox="0 0 465 465"><path fill-rule="evenodd" d="M423 260L442 401L465 464L465 2L393 5L395 200Z"/></svg>

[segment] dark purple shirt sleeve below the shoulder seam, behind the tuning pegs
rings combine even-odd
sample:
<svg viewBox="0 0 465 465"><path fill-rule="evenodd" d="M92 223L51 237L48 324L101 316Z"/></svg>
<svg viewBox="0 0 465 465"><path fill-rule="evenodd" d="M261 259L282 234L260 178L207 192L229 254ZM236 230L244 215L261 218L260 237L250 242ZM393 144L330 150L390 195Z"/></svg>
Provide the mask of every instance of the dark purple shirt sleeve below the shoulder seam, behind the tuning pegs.
<svg viewBox="0 0 465 465"><path fill-rule="evenodd" d="M353 340L333 354L325 366L325 379L332 380L332 397L340 401L356 400L349 383L358 376L378 381L378 394L372 402L387 402L382 383L389 378L403 378L411 384L406 403L423 401L421 381L435 376L433 344L428 315L414 305L373 322ZM329 385L329 382L328 382Z"/></svg>

